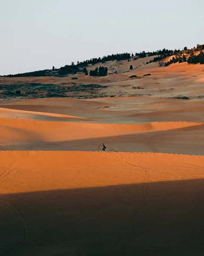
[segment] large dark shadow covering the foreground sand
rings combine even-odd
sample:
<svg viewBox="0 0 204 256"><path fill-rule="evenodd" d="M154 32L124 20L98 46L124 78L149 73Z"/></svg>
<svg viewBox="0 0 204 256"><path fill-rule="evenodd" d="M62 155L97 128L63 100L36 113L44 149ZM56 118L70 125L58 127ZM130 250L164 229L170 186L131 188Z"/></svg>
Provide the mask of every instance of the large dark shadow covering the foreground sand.
<svg viewBox="0 0 204 256"><path fill-rule="evenodd" d="M203 198L202 179L0 195L0 255L204 255Z"/></svg>

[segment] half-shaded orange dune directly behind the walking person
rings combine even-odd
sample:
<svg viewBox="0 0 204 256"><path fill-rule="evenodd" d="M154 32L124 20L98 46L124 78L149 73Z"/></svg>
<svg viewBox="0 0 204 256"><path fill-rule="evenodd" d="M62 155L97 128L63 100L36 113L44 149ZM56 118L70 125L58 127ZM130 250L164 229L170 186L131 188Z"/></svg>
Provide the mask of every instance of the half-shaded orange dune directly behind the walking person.
<svg viewBox="0 0 204 256"><path fill-rule="evenodd" d="M128 125L11 118L0 121L3 150L101 151L105 143L108 151L204 154L202 122Z"/></svg>

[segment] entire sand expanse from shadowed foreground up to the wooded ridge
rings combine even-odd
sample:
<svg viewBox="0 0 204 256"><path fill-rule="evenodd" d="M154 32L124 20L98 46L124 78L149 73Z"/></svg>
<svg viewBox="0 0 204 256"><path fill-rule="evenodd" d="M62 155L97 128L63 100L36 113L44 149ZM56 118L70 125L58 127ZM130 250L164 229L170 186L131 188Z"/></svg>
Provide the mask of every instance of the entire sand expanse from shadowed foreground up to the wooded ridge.
<svg viewBox="0 0 204 256"><path fill-rule="evenodd" d="M106 97L2 99L0 255L203 256L203 70L148 64L79 76Z"/></svg>

